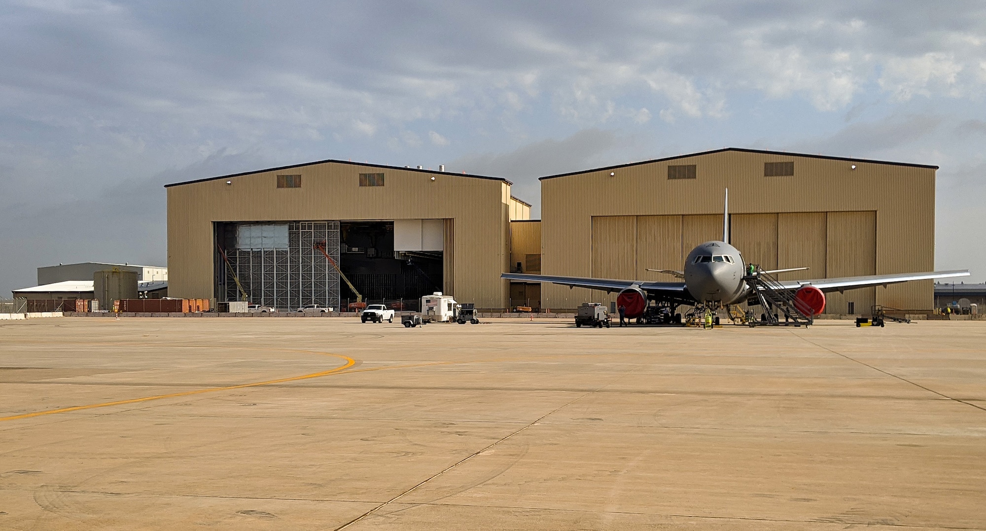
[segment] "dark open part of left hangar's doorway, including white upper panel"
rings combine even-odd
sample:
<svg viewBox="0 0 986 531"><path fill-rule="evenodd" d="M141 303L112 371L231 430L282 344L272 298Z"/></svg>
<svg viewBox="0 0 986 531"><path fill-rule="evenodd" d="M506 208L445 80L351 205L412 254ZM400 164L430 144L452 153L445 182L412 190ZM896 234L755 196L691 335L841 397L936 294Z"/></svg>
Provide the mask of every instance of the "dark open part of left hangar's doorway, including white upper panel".
<svg viewBox="0 0 986 531"><path fill-rule="evenodd" d="M439 222L437 242L428 221ZM442 291L444 220L341 221L339 240L339 268L364 302L414 310L421 296ZM340 291L344 308L356 301L345 282Z"/></svg>

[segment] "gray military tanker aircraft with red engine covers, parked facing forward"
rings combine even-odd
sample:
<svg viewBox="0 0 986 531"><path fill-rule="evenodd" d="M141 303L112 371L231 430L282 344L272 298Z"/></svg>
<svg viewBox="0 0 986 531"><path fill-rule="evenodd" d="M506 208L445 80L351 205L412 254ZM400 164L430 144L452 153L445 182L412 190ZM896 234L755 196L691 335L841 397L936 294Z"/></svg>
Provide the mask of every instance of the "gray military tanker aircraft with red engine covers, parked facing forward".
<svg viewBox="0 0 986 531"><path fill-rule="evenodd" d="M726 208L723 220L723 240L699 244L688 253L681 271L648 269L668 273L683 281L658 282L650 280L620 280L586 278L545 274L503 273L502 278L528 282L551 282L570 287L586 287L606 292L619 292L617 304L625 308L627 318L640 318L648 310L648 301L669 308L670 315L678 305L720 307L746 301L754 290L763 289L750 282L752 274L773 274L808 267L787 269L750 270L743 263L740 250L729 244L729 190L726 190ZM816 278L811 280L777 280L773 289L794 295L795 306L808 318L820 314L825 308L825 293L846 291L872 286L886 286L910 280L968 276L968 270L909 272L896 274L872 274L840 278ZM678 317L678 321L680 317Z"/></svg>

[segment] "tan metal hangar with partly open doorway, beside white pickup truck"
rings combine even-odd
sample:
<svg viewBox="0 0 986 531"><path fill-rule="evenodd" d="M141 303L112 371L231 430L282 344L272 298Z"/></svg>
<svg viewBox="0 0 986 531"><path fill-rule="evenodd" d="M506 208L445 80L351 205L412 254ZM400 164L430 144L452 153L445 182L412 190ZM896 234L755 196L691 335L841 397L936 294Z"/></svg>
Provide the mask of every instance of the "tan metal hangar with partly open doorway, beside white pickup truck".
<svg viewBox="0 0 986 531"><path fill-rule="evenodd" d="M337 160L168 185L169 289L339 308L355 295L316 249L323 244L370 300L442 291L505 308L510 221L529 217L511 185Z"/></svg>

